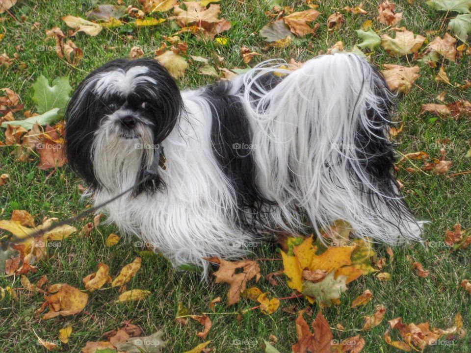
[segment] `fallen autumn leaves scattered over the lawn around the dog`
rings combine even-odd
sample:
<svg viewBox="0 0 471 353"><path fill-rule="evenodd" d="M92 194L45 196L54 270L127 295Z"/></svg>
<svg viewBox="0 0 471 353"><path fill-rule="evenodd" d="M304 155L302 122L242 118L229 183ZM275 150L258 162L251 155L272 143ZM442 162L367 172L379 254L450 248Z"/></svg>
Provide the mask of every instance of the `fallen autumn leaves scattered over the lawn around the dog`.
<svg viewBox="0 0 471 353"><path fill-rule="evenodd" d="M140 30L150 33L164 31L166 34L161 36L161 41L153 42L152 50L133 45L127 55L130 58L155 57L177 80L185 79L190 72L192 75L205 76L209 81L230 79L262 60L275 57L274 53L281 52L289 53L286 69L296 70L303 62L296 55L297 49L293 48L300 46L310 53L305 58L351 51L373 64L380 58L382 65L379 69L390 89L399 97L424 90L419 82L425 76L435 82L437 91L434 99L414 101L419 110L418 118L426 124L466 121L469 125L471 103L463 99L466 95L469 97L471 92L469 71L468 76L458 81L449 77L454 76L452 68L455 63L468 62L467 68L470 70L471 1L426 1L422 5L432 11L437 20L436 28L417 32L410 30L408 25L412 19L403 16L401 7L390 1L332 6L329 12L322 12L319 1L288 4L281 0L266 0L263 4L264 23L251 29L251 36L262 43L259 46L246 44L248 41L244 39L235 43L232 31L236 24L231 18L222 15L225 6L234 5L232 2L235 1L117 0L94 4L80 14L67 14L64 7L62 16L54 19L55 25L45 28L40 22L31 21L22 14L20 1L0 0L0 18L2 24L8 24L9 21L31 22L31 30L39 34L48 48L52 48L47 54L60 60L73 73L77 70L87 73L93 69L83 67L87 48L80 48L76 43L83 43L83 38L98 40L104 33L119 31L123 40L131 40L129 37L135 39ZM246 6L243 1L238 3L235 6ZM409 0L404 6L414 7L417 4ZM338 33L349 28L354 21L360 24L353 28L353 42L356 44L346 47L343 40L338 38ZM1 24L0 29L2 41L9 29L7 25ZM333 45L326 50L313 51L310 41L332 42ZM195 54L191 43L193 46L214 49L210 50L210 55ZM235 46L239 66L228 66L222 52L229 46ZM22 70L31 65L34 63L23 60L21 43L14 46L13 54L0 54L2 70L21 74ZM47 183L48 178L63 171L67 164L63 150L63 115L73 91L70 77L34 75L28 87L27 99L20 97L8 82L3 82L1 86L1 153L15 163L39 169L46 176ZM24 101L30 103L25 105ZM392 140L402 138L408 129L410 121L400 118L404 115L397 116L394 122L396 125L390 130ZM405 153L399 152L396 171L404 178L409 174L441 178L438 180L468 176L471 173L469 168L456 169L456 165L463 163L458 164L449 158L447 146L450 142L449 137L436 141L441 148L433 153L414 148ZM463 160L471 157L471 149L467 146L468 151L461 156ZM13 177L3 169L9 170L1 166L0 189L9 190L14 187ZM408 191L410 182L407 186L403 185L400 178L397 182L405 192ZM80 192L84 189L78 185ZM77 191L71 189L68 192ZM417 195L421 197L419 192ZM251 256L240 261L207 258L213 264L214 271L209 280L214 293L223 294L214 295L206 302L199 301L197 306L205 309L198 311L180 299L173 301L171 320L165 326L167 331L162 325L156 324L146 325L147 329L144 330L142 327L146 315L142 315L135 320L112 321L112 327L108 324L106 329L101 329L101 335L85 342L80 339L82 323L85 320L94 323L105 320L103 310L93 311L94 305L103 301L103 298L109 301L108 305L118 308L127 306L132 310L138 310L146 301L149 301L149 305L157 305L149 299L153 291L145 286L135 286L134 281L142 273L141 266L149 259L155 260L158 255L152 248L140 249L132 254L130 261L119 267L109 264L114 260L113 256L101 256L92 271L73 274L75 284L51 282L48 274L60 278L56 276L60 270L46 268L57 258L56 252L62 251L62 242L71 238L86 241L99 233L104 239L100 246L113 253L114 248L129 239L112 232L102 234L101 214L93 219L82 220L85 223L80 223L80 226L62 226L32 238L31 234L47 228L59 218L47 209L47 217L35 219L24 209L11 205L3 207L2 201L0 271L4 280L0 286L1 303L5 307L9 303L14 306L27 301L26 305L32 308L28 318L35 324L41 326L42 323L55 321L61 326L56 332L36 332L31 329L30 336L44 350L66 352L75 341L83 342L79 349L84 353L167 352L168 347L173 347L172 341L176 338L170 330L184 328L191 336L191 342L195 339L198 342L196 345L185 345L187 353L221 352L218 349L218 345L222 344L221 337L229 333L214 324L218 317L229 317L237 325L243 326L248 325L249 320L263 322L276 314L289 317L286 329L290 332L290 341L284 342L286 335L279 338L281 334L274 330L258 337L256 343L247 341L250 344L245 344L244 338L239 337L236 342L241 343L235 344L233 339L235 352L280 353L288 352L287 347L293 353L370 352L366 350L372 343L372 331L380 332L374 339L380 340L380 346L388 347L391 352L431 351L438 346L451 345L467 347L465 345L469 341L467 330L470 323L464 322L462 317L468 310L466 307L453 307L452 315L438 318L446 322L447 326L436 327L430 323L437 321L433 307L428 308L428 316L412 322L407 313L397 312L388 301L377 300L376 296L379 295L366 283L382 290L387 285L385 283L394 280L402 283L404 277L403 285L434 285L439 277L437 269L423 266L413 252L398 258L393 248L383 247L378 250L378 245L370 239L355 238L355 229L338 220L329 229L317 229L317 232L313 229L312 235L274 234L277 245L270 248L271 255L268 258ZM444 246L440 248L440 256L468 258L468 275L462 275L466 273L463 269L456 270L453 286L440 290L453 295L458 293L467 298L464 300L469 303L471 231L466 228L470 227L469 220L463 220L464 223L468 222L464 227L458 223L461 221L447 220L447 227L441 229L439 236ZM116 254L119 256L119 251ZM71 253L70 256L76 254ZM407 264L407 271L400 275L401 278L391 274L397 262ZM272 271L265 271L268 266ZM198 271L191 266L184 270ZM179 278L189 278L185 276L191 274L178 275ZM194 287L205 285L204 282L197 282ZM349 297L352 288L359 294ZM400 295L399 289L391 293L391 296ZM403 297L401 300L419 301L420 298ZM329 323L326 316L332 319L335 316L326 313L332 314L335 310L347 312L350 316L361 312L363 322Z"/></svg>

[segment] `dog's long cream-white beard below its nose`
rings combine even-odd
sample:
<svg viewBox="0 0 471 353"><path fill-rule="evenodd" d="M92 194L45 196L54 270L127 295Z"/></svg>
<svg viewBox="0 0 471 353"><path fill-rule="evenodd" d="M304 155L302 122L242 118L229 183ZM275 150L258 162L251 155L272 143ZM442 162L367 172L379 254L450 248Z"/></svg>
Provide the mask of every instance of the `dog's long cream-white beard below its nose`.
<svg viewBox="0 0 471 353"><path fill-rule="evenodd" d="M153 133L139 123L133 131L123 131L106 120L95 132L92 158L95 176L111 193L130 188L139 171L151 166L154 159Z"/></svg>

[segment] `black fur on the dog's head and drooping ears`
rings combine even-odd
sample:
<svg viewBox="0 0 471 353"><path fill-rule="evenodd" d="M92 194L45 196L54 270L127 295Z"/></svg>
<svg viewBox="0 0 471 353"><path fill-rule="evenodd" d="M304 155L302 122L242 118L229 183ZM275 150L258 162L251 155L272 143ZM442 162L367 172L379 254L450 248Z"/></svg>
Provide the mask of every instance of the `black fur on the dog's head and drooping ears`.
<svg viewBox="0 0 471 353"><path fill-rule="evenodd" d="M98 74L115 70L127 71L134 66L148 67L149 72L146 76L152 77L158 84L142 84L128 97L111 97L107 100L92 92L95 85L93 81ZM107 108L107 103L110 101L118 101L119 104L124 104L131 110L137 110L142 101L149 102L151 109L139 113L146 115L146 118L154 124L155 145L162 142L172 131L183 108L177 84L167 70L154 59L132 61L117 59L88 75L78 86L66 109L65 148L70 167L94 190L99 189L101 185L94 173L91 146L94 132L99 128L101 119L105 114L112 112ZM141 180L143 175L144 164L142 163L137 180ZM163 182L157 177L156 180L148 180L137 187L134 195L145 190L154 191L162 186Z"/></svg>

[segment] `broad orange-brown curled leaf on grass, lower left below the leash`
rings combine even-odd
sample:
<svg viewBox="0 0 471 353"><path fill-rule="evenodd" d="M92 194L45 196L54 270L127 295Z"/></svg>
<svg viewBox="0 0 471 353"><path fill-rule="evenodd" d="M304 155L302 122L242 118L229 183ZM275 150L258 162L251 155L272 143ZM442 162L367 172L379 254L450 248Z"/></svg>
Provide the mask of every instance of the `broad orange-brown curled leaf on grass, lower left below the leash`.
<svg viewBox="0 0 471 353"><path fill-rule="evenodd" d="M53 284L49 286L47 291L51 295L44 297L45 302L36 311L36 313L41 313L46 307L49 307L49 311L43 315L43 320L58 315L78 314L88 302L88 294L65 283Z"/></svg>

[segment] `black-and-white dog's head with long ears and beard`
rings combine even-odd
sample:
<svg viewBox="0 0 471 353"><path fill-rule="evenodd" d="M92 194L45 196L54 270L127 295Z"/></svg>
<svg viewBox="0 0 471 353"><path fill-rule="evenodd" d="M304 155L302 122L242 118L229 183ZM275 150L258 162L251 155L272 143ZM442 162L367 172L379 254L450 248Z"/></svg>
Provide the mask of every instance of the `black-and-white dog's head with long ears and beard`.
<svg viewBox="0 0 471 353"><path fill-rule="evenodd" d="M121 189L142 177L181 109L177 84L156 60L111 61L87 76L69 102L69 165L94 189Z"/></svg>

